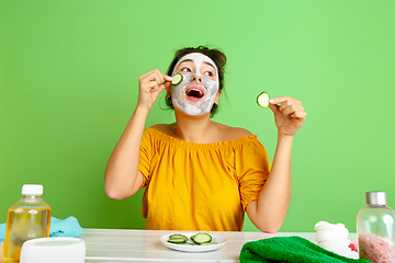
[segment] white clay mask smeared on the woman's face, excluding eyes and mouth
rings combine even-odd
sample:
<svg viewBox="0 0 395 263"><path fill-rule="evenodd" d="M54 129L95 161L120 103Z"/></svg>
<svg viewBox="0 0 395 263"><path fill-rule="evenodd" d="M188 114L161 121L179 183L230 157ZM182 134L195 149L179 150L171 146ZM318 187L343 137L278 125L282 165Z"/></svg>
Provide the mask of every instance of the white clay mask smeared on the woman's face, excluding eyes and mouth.
<svg viewBox="0 0 395 263"><path fill-rule="evenodd" d="M204 113L207 113L213 107L213 104L215 102L215 98L219 90L219 80L218 80L218 69L215 65L215 62L207 56L201 54L201 53L191 53L182 58L177 62L172 75L176 73L176 70L178 66L185 61L187 59L192 59L195 66L194 72L181 72L183 75L183 80L178 85L171 87L171 101L173 105L176 105L178 108L180 108L182 112L190 116L196 116ZM211 80L206 78L205 75L202 75L200 72L200 69L205 62L211 64L215 68L215 80ZM193 80L194 77L200 77L202 81ZM185 92L189 89L191 84L200 85L204 89L204 98L199 101L193 101L188 99Z"/></svg>

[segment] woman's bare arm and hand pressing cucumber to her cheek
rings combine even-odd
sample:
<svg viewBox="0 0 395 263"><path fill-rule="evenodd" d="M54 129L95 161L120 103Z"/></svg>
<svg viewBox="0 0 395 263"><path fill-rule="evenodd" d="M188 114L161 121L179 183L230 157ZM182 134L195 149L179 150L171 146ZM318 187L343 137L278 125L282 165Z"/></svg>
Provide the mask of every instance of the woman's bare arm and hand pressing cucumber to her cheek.
<svg viewBox="0 0 395 263"><path fill-rule="evenodd" d="M136 110L105 168L104 190L109 197L123 199L134 195L142 186L143 174L138 171L138 159L145 122L154 102L170 85L171 79L158 69L139 77Z"/></svg>

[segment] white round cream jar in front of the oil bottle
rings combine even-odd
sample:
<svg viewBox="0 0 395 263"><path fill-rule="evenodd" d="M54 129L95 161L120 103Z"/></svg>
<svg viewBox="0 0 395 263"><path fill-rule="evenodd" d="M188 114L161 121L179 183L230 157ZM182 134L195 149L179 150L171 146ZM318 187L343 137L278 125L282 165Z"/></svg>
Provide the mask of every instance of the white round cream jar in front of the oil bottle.
<svg viewBox="0 0 395 263"><path fill-rule="evenodd" d="M86 243L79 238L38 238L23 243L20 263L83 263Z"/></svg>

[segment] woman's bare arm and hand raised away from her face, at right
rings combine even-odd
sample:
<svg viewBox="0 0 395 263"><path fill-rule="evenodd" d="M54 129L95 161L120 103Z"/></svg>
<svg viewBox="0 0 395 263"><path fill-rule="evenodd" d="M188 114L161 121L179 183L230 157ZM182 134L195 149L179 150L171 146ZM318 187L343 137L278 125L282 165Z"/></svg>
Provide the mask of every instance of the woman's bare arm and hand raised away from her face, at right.
<svg viewBox="0 0 395 263"><path fill-rule="evenodd" d="M258 199L247 206L247 214L260 230L276 232L285 219L291 202L293 137L306 118L306 112L302 103L292 98L273 99L270 108L278 127L278 145L268 180Z"/></svg>

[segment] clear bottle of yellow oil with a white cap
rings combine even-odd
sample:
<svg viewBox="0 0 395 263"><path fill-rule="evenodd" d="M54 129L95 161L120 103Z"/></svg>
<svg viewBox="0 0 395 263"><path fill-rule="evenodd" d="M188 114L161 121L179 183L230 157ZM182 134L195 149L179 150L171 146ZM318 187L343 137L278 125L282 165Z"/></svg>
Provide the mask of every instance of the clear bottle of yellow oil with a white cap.
<svg viewBox="0 0 395 263"><path fill-rule="evenodd" d="M22 199L7 215L3 263L20 261L22 244L30 239L49 237L52 209L41 195L43 185L24 184Z"/></svg>

